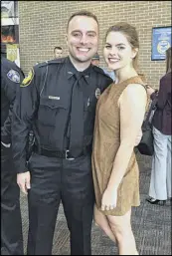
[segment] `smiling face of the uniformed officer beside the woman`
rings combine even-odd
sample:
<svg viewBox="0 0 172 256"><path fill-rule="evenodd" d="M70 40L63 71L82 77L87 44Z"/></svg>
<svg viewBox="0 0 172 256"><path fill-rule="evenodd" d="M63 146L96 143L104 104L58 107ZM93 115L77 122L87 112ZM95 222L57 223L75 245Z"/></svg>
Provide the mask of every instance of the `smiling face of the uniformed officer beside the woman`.
<svg viewBox="0 0 172 256"><path fill-rule="evenodd" d="M86 16L76 16L70 23L67 34L70 56L79 63L90 62L97 52L98 25Z"/></svg>

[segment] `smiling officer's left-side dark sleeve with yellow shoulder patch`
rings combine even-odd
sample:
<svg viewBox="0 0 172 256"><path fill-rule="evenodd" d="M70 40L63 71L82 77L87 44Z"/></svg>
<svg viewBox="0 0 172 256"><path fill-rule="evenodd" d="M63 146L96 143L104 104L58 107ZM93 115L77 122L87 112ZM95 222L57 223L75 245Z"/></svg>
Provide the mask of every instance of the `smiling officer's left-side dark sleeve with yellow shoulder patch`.
<svg viewBox="0 0 172 256"><path fill-rule="evenodd" d="M37 74L32 70L16 95L12 116L12 151L18 173L28 171L27 139L38 106Z"/></svg>

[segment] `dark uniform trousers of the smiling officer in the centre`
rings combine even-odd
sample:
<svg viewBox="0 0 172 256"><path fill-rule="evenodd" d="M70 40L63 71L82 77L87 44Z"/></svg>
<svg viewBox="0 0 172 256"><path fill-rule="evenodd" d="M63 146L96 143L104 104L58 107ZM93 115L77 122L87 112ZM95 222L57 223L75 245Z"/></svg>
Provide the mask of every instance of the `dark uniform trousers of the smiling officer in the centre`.
<svg viewBox="0 0 172 256"><path fill-rule="evenodd" d="M90 155L74 160L34 153L29 160L28 255L51 255L62 200L71 235L71 254L90 255L93 184Z"/></svg>

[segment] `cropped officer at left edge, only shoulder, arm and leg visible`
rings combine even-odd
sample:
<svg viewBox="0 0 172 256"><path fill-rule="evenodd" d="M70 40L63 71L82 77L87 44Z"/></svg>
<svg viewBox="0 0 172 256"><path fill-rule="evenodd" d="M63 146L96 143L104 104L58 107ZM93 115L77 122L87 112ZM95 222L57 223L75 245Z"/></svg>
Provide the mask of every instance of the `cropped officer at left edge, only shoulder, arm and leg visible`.
<svg viewBox="0 0 172 256"><path fill-rule="evenodd" d="M21 69L1 56L1 255L23 255L20 189L11 151L11 114Z"/></svg>

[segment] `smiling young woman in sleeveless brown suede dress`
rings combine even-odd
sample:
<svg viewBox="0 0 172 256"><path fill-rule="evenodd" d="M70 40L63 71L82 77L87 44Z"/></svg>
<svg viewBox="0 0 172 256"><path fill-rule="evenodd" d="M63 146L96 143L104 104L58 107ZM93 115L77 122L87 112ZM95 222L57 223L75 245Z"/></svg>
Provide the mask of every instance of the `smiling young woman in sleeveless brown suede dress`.
<svg viewBox="0 0 172 256"><path fill-rule="evenodd" d="M138 254L130 223L131 207L140 204L134 146L147 106L136 70L138 49L134 27L117 23L107 30L103 54L115 83L98 100L94 126L94 221L117 241L119 255Z"/></svg>

